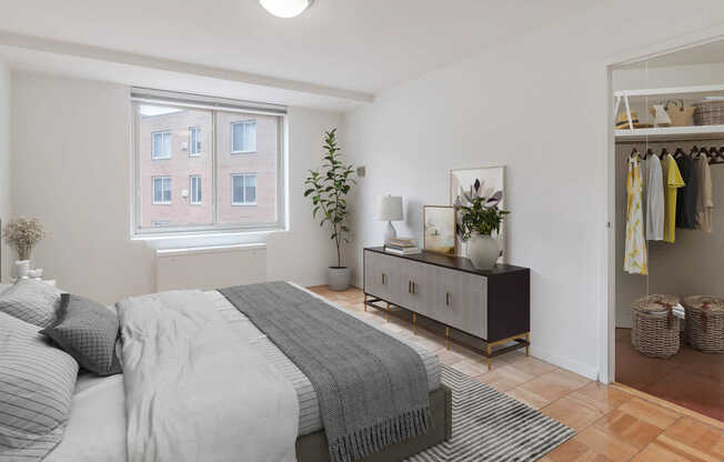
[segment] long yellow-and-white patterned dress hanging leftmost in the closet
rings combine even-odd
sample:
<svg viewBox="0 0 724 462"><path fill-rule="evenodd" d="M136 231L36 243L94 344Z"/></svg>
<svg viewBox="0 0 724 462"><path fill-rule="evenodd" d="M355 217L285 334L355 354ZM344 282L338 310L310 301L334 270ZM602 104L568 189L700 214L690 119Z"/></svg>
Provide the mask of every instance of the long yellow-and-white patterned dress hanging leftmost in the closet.
<svg viewBox="0 0 724 462"><path fill-rule="evenodd" d="M631 274L648 274L642 209L643 180L638 155L629 159L626 179L626 249L623 269Z"/></svg>

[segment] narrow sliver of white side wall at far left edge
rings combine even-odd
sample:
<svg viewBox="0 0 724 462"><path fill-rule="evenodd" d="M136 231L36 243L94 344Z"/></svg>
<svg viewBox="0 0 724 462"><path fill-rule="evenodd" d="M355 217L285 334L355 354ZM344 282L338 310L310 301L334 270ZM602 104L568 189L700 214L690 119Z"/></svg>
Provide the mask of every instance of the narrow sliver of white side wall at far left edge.
<svg viewBox="0 0 724 462"><path fill-rule="evenodd" d="M0 59L0 220L3 227L12 212L10 208L10 69ZM11 255L4 240L0 242L0 255L2 255L0 274L3 280L8 280Z"/></svg>

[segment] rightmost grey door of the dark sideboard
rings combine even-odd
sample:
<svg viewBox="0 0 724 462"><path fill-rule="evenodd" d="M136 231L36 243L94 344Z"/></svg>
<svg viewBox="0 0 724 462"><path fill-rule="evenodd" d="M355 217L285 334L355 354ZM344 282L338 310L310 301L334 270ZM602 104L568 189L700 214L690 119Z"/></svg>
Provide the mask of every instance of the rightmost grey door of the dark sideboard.
<svg viewBox="0 0 724 462"><path fill-rule="evenodd" d="M487 279L436 268L430 310L430 317L436 321L487 339Z"/></svg>

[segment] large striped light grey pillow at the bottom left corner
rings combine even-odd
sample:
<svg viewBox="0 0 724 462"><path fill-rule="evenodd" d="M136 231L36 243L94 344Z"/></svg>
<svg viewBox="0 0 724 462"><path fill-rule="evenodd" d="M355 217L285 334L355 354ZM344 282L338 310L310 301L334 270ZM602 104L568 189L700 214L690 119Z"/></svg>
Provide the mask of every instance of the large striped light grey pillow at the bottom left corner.
<svg viewBox="0 0 724 462"><path fill-rule="evenodd" d="M62 440L78 363L0 313L0 460L40 461Z"/></svg>

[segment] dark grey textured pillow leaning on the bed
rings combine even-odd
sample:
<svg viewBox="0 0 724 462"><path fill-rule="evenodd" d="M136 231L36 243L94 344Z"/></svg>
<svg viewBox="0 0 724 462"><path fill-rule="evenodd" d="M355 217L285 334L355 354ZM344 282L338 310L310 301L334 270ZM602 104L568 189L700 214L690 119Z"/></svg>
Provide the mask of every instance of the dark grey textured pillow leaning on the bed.
<svg viewBox="0 0 724 462"><path fill-rule="evenodd" d="M88 371L98 375L121 372L115 354L118 317L98 302L63 293L56 321L40 332Z"/></svg>

